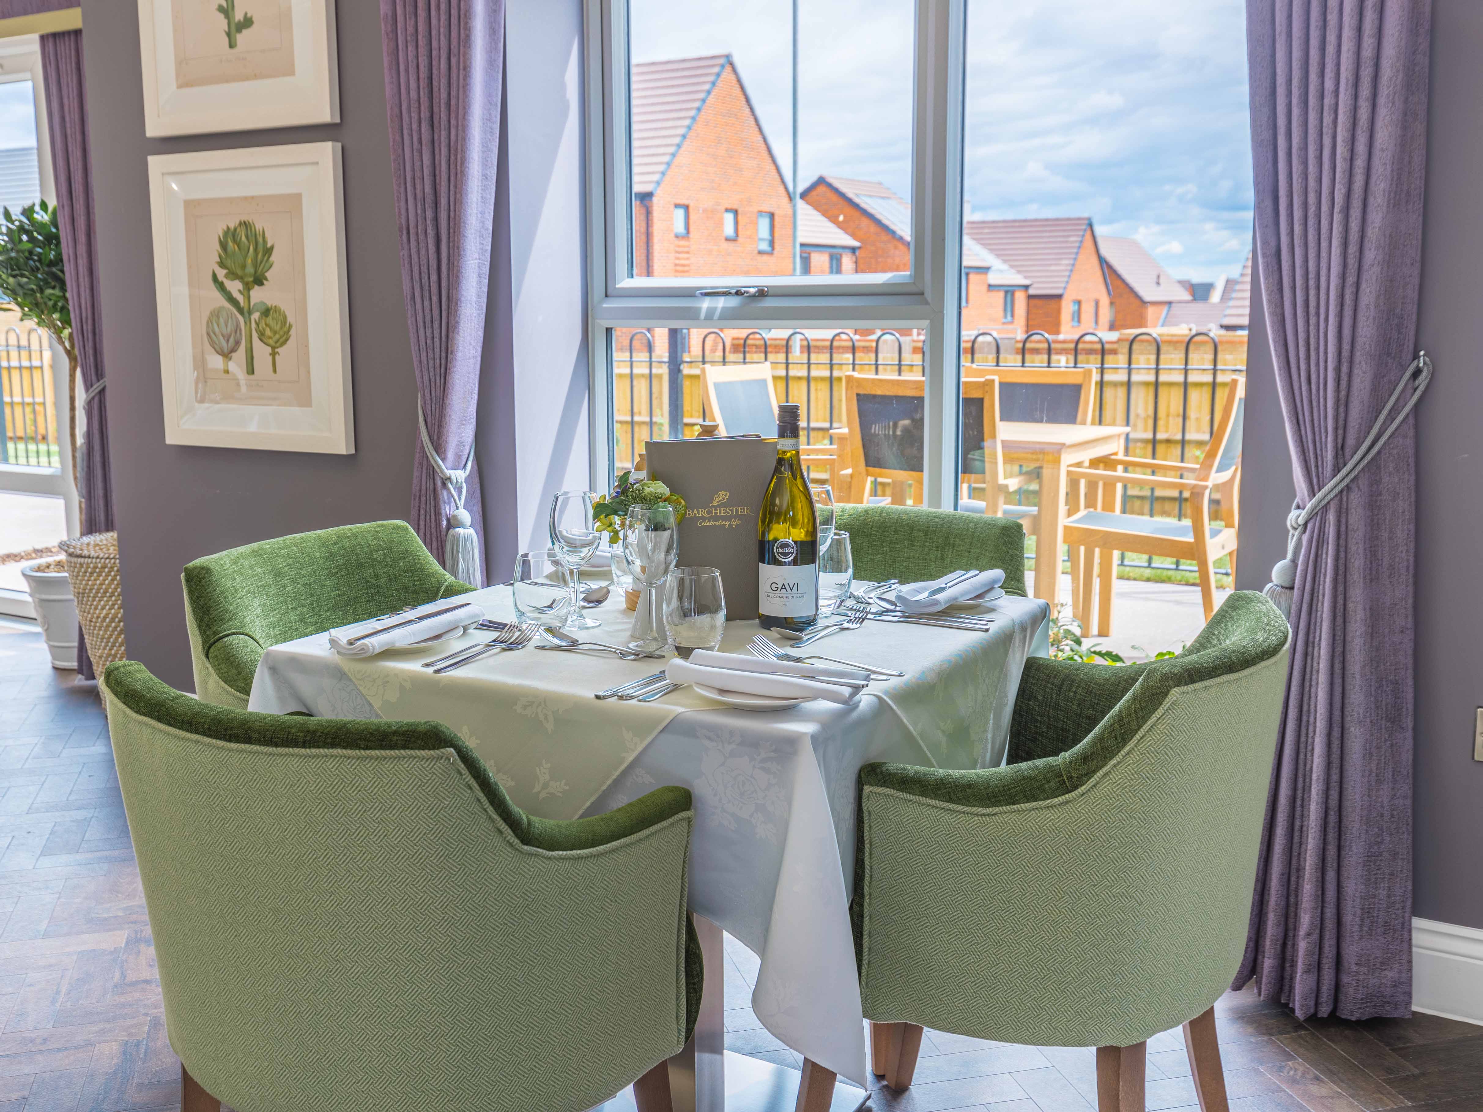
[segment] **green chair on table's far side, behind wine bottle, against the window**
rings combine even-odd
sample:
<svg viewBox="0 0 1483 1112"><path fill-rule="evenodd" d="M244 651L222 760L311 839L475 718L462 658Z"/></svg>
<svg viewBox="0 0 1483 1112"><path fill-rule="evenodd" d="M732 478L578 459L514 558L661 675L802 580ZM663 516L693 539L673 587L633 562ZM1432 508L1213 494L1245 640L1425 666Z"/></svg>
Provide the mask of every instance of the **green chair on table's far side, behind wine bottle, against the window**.
<svg viewBox="0 0 1483 1112"><path fill-rule="evenodd" d="M1008 517L918 506L841 506L860 580L924 583L967 568L1003 568L1004 593L1025 596L1025 526Z"/></svg>

